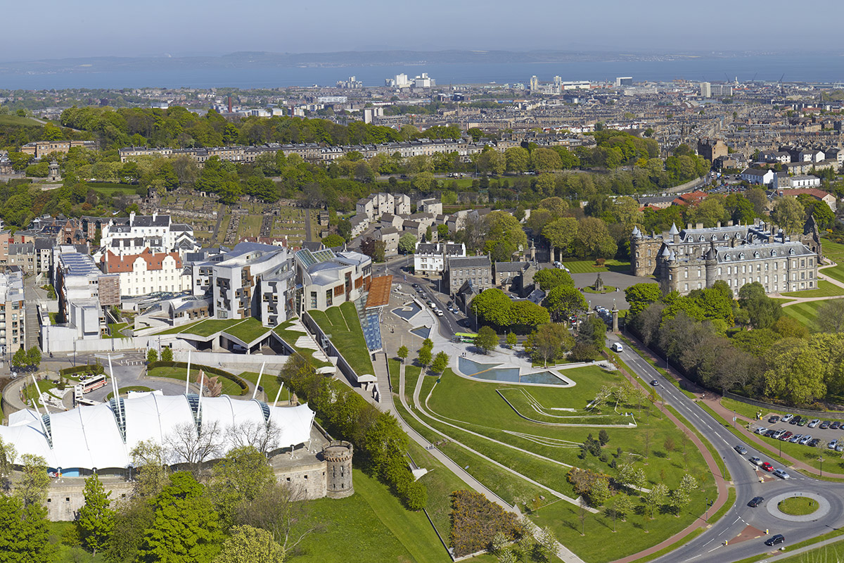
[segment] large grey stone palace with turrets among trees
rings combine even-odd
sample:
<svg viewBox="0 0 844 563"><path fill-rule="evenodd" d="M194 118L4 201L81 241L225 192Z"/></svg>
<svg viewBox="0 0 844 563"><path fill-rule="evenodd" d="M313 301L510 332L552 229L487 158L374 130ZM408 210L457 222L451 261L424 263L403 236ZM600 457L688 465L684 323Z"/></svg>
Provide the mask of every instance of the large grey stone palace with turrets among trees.
<svg viewBox="0 0 844 563"><path fill-rule="evenodd" d="M688 225L662 234L644 235L634 228L630 268L637 276L653 275L663 292L711 287L719 279L734 295L744 284L759 282L766 292L812 290L817 287L820 235L814 218L803 233L789 237L758 219L754 225L703 228Z"/></svg>

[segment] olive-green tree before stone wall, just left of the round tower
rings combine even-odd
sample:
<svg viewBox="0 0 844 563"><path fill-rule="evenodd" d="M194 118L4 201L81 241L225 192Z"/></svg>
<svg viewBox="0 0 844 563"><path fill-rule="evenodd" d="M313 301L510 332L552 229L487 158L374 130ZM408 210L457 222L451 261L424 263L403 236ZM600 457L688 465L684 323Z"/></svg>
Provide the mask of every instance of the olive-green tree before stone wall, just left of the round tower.
<svg viewBox="0 0 844 563"><path fill-rule="evenodd" d="M255 447L238 447L214 464L208 495L223 522L231 523L239 503L254 501L273 483L267 457Z"/></svg>

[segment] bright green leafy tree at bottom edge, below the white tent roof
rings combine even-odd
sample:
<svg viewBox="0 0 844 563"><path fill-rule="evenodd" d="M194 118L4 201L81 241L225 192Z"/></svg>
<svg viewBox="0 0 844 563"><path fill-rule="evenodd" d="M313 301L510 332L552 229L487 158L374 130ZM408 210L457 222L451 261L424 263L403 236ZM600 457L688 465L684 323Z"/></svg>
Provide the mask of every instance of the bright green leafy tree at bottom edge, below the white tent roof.
<svg viewBox="0 0 844 563"><path fill-rule="evenodd" d="M155 497L153 525L143 536L139 561L206 563L219 554L225 535L204 487L191 474L177 472Z"/></svg>

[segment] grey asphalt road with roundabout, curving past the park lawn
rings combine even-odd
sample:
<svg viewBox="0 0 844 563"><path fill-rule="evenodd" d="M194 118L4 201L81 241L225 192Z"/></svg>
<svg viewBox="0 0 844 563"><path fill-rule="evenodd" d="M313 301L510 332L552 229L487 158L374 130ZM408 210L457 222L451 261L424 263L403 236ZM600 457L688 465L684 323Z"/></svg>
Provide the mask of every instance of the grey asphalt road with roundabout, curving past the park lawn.
<svg viewBox="0 0 844 563"><path fill-rule="evenodd" d="M610 343L617 341L619 341L618 338L614 336L609 338ZM791 468L788 468L787 471L793 479L781 480L775 477L773 480L760 483L761 475L771 476L771 474L761 470L757 471L755 466L749 463L748 458L759 456L763 461L768 460L769 458L764 453L734 436L730 430L713 419L673 383L668 382L646 360L631 350L627 344L624 345L624 351L619 356L643 382L650 384L653 380L657 380L657 392L665 399L665 402L677 409L679 414L682 414L715 447L718 455L722 457L727 466L733 479L731 483L736 490L735 505L711 528L688 544L675 549L668 555L663 555L655 561L661 563L674 563L676 561L726 563L752 555L764 555L776 551L776 548L764 544L765 537L724 545L725 540L728 542L733 540L747 526L762 531L768 529L771 534L782 533L786 537L786 545L796 544L844 526L844 501L842 501L844 484L811 479L803 474L798 474ZM733 450L733 447L738 444L747 449L746 454L739 455L738 452ZM778 467L779 463L774 463L774 466ZM777 495L792 493L809 493L822 496L830 503L829 512L821 517L820 521L792 522L776 517L768 510L766 506L768 500ZM765 497L766 503L757 508L750 508L747 503L755 496Z"/></svg>

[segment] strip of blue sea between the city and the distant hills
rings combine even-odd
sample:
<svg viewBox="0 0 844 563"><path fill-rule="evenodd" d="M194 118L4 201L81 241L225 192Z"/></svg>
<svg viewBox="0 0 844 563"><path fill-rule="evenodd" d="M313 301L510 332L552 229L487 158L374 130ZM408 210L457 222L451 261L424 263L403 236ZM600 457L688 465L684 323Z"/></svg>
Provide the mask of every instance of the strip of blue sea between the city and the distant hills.
<svg viewBox="0 0 844 563"><path fill-rule="evenodd" d="M309 68L187 68L182 70L85 70L67 73L2 73L0 89L66 88L284 88L333 86L354 76L365 86L382 86L385 78L406 73L413 78L428 73L438 86L449 84L527 84L536 75L540 82L555 76L563 80L613 81L631 76L635 82L674 79L710 82L771 81L844 83L844 57L755 55L750 57L696 57L630 62L506 62L436 63L395 66L342 66Z"/></svg>

